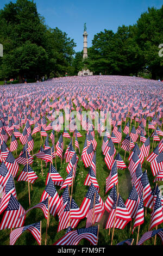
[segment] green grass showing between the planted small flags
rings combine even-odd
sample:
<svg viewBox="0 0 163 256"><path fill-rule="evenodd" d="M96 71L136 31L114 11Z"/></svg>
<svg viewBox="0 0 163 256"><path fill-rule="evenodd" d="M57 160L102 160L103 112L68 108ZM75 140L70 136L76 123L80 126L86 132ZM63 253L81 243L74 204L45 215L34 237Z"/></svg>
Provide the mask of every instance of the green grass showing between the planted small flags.
<svg viewBox="0 0 163 256"><path fill-rule="evenodd" d="M136 123L137 124L137 123ZM133 124L134 125L134 121ZM33 129L34 126L32 126ZM137 127L137 126L136 126ZM122 131L124 129L124 122L122 122ZM22 130L21 130L22 131ZM47 131L48 134L51 134L51 131ZM73 199L76 201L78 206L80 206L83 202L83 199L85 197L85 194L88 190L88 186L84 186L84 181L86 178L87 173L89 172L89 168L85 168L83 161L80 161L80 156L83 150L83 145L85 141L85 131L80 131L82 133L83 137L79 137L79 147L80 147L80 154L77 149L77 155L79 156L79 161L77 164L77 171L76 171L76 177L74 180L74 186L73 186ZM152 131L149 130L149 135L151 135ZM61 132L57 135L55 132L55 143L57 143L58 138L60 136ZM72 133L71 137L72 137ZM122 140L126 137L124 133L122 132ZM146 136L147 137L147 136ZM40 134L36 133L33 135L34 139L34 154L36 154L39 151L40 148ZM102 137L99 137L97 135L97 131L95 131L95 139L97 141L97 148L96 148L96 169L97 169L97 174L96 178L100 187L99 194L101 198L103 199L103 202L105 202L106 198L109 195L109 192L105 194L105 181L106 178L108 177L110 170L108 170L108 167L105 164L104 161L104 155L102 154ZM22 145L18 141L18 149L17 149L17 155L20 154L20 151L22 150ZM70 139L65 138L65 147L64 147L64 152L70 142ZM7 145L10 145L10 141L8 140ZM51 139L49 138L49 145L52 146ZM142 143L141 143L142 145ZM155 145L156 147L156 145ZM117 152L120 153L122 156L122 159L124 160L124 150L121 149L121 147L118 148L118 145L115 143L115 148ZM154 149L154 148L153 148ZM151 139L151 150L152 151L152 139ZM16 158L16 152L14 151L13 153L14 157ZM128 167L129 161L128 161L128 156L129 153L126 153L126 159L124 162L126 163L126 166ZM54 160L53 160L54 161ZM66 178L67 172L66 172L66 166L68 163L65 162L65 160L60 161L60 158L56 158L57 161L57 170L62 176L63 179ZM53 165L55 166L54 162ZM47 172L49 169L49 164L47 167L45 167L45 162L43 162L43 175L41 173L41 160L37 159L34 156L34 162L32 164L32 168L35 171L35 173L38 176L38 179L35 181L35 183L32 185L32 188L30 187L30 206L29 206L29 194L28 194L28 183L24 181L17 181L18 175L21 173L21 170L23 169L23 165L20 164L20 169L17 173L15 180L15 187L16 187L16 192L17 192L17 198L18 202L23 206L25 210L31 208L32 206L38 204L41 199L41 195L43 190L45 189L45 181L46 181L46 176ZM153 183L154 177L151 171L151 166L150 163L146 161L143 162L142 164L142 169L147 170L148 173L148 179L151 184L151 188L154 187L155 183ZM160 182L160 185L163 185L163 182ZM59 186L55 186L57 188L57 191L59 193L59 196L61 196L63 190L60 191ZM121 197L124 201L126 202L129 193L131 190L131 178L130 178L130 173L128 168L124 170L118 170L118 192L121 194ZM3 214L0 215L0 221L2 220ZM149 223L150 223L150 218L151 218L151 209L147 208L147 216L145 216L145 222L140 226L140 233L139 233L139 239L140 237L148 231L149 228ZM110 245L111 243L111 236L112 236L112 229L109 235L109 229L105 229L106 221L108 220L108 213L105 211L102 220L99 224L99 236L98 236L98 245ZM24 225L28 224L33 224L35 222L41 221L42 223L42 242L41 245L45 245L45 234L46 234L46 219L43 215L43 212L41 209L33 209L30 210L27 215L26 215L26 220ZM53 245L54 242L56 242L60 237L65 235L66 230L61 230L59 233L57 233L57 228L58 228L58 216L54 217L50 215L50 221L49 221L49 228L47 231L47 245ZM86 218L81 220L77 226L77 228L84 228L86 224ZM131 225L133 227L134 220L131 222ZM163 225L159 225L158 228L163 228ZM115 229L114 232L114 240L113 240L113 245L116 245L118 242L123 241L128 238L134 238L134 243L133 245L136 245L136 238L137 238L137 227L134 230L134 234L131 234L130 231L130 223L126 225L126 227L123 230L120 229ZM10 229L5 229L0 231L0 245L9 245L9 238L10 238ZM153 245L154 244L154 238L147 240L144 245ZM156 237L156 245L160 245L161 241L159 236ZM34 239L33 235L30 234L28 231L25 231L16 241L15 245L38 245L36 240ZM79 245L90 245L90 242L87 240L82 240L80 241Z"/></svg>

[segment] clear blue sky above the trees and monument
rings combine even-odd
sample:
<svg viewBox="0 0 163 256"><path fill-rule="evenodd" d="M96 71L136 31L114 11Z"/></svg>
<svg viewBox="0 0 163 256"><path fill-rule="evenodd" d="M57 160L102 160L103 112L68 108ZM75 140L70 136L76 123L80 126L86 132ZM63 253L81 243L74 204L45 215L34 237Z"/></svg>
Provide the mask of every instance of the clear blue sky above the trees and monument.
<svg viewBox="0 0 163 256"><path fill-rule="evenodd" d="M0 0L0 9L10 0ZM12 2L16 2L13 0ZM162 0L34 0L37 11L46 24L66 32L74 39L75 51L83 50L84 23L87 28L87 47L93 36L104 29L117 31L118 26L133 25L148 7L160 9ZM85 5L84 5L85 3Z"/></svg>

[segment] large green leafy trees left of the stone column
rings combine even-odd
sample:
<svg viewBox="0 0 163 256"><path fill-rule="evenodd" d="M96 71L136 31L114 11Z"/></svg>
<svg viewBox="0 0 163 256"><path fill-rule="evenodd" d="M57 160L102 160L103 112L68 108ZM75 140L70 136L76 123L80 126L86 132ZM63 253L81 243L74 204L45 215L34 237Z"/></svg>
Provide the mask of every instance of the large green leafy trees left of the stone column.
<svg viewBox="0 0 163 256"><path fill-rule="evenodd" d="M4 57L0 59L0 78L26 75L49 77L73 74L73 39L59 28L51 29L37 13L36 4L29 0L17 0L0 10L0 41Z"/></svg>

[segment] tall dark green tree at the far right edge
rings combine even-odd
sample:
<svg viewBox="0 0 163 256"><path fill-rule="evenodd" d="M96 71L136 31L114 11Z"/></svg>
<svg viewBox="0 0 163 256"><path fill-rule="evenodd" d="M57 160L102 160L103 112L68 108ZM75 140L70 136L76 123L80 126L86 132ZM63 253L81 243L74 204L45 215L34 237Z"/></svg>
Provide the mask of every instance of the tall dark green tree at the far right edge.
<svg viewBox="0 0 163 256"><path fill-rule="evenodd" d="M137 20L136 41L144 58L144 67L152 73L152 78L162 78L163 63L159 56L159 45L163 41L163 5L161 9L148 8Z"/></svg>

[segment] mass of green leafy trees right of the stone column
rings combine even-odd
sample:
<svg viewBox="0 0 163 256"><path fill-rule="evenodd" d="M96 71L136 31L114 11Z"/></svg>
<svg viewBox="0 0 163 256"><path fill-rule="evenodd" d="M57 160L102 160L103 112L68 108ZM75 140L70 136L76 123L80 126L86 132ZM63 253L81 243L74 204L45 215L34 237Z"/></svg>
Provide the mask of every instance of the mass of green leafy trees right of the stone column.
<svg viewBox="0 0 163 256"><path fill-rule="evenodd" d="M93 74L135 75L150 72L152 78L162 78L163 59L159 57L159 45L163 38L163 5L157 10L148 8L133 26L119 26L97 33L88 48L86 66ZM77 70L82 60L78 52L74 58ZM80 69L81 70L81 69Z"/></svg>

